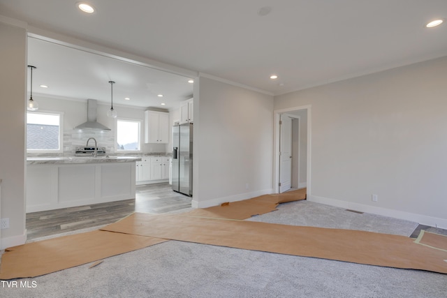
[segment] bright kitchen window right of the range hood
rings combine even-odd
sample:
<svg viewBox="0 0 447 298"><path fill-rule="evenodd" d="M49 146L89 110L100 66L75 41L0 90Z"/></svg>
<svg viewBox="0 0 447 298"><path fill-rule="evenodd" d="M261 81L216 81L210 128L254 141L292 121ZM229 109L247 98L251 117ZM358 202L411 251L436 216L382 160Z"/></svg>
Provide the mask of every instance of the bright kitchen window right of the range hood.
<svg viewBox="0 0 447 298"><path fill-rule="evenodd" d="M117 151L141 151L141 121L117 119Z"/></svg>

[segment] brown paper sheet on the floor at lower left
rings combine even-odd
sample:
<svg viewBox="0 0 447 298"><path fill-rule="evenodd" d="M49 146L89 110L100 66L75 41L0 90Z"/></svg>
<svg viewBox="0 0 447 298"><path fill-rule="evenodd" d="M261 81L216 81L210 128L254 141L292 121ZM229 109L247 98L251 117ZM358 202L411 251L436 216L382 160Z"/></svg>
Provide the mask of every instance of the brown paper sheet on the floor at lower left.
<svg viewBox="0 0 447 298"><path fill-rule="evenodd" d="M166 239L93 231L7 248L0 279L34 277L167 241Z"/></svg>

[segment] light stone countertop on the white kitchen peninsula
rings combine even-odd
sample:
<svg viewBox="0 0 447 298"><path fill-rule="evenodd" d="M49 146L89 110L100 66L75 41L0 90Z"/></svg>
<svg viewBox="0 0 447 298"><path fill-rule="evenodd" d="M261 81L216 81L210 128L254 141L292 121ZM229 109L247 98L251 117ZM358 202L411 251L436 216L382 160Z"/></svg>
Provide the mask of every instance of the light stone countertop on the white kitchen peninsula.
<svg viewBox="0 0 447 298"><path fill-rule="evenodd" d="M52 163L129 163L133 161L141 161L136 156L38 156L28 157L27 165L44 165Z"/></svg>

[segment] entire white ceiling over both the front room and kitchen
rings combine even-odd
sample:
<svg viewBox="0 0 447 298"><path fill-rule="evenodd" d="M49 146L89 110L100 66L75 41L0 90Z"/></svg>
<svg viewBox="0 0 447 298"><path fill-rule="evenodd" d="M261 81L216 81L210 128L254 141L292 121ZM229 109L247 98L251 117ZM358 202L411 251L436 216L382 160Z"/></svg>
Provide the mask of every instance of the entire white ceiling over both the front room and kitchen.
<svg viewBox="0 0 447 298"><path fill-rule="evenodd" d="M87 0L92 15L76 2L0 0L0 14L273 95L447 55L447 24L425 28L447 18L446 0ZM108 100L108 80L114 103L115 89L139 106L192 94L188 77L41 40L29 42L31 63L35 84L54 80L45 92L57 96Z"/></svg>

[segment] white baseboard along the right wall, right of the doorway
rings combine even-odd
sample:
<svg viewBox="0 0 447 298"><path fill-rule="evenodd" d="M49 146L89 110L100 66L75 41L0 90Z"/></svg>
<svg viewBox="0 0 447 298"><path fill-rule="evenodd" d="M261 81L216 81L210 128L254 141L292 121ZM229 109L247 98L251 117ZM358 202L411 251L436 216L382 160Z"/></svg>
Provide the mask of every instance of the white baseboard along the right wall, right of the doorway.
<svg viewBox="0 0 447 298"><path fill-rule="evenodd" d="M394 209L387 209L383 207L375 207L367 204L359 204L354 202L346 202L342 200L336 200L332 198L318 197L316 195L308 195L307 200L309 202L317 202L321 204L327 204L335 207L341 207L345 209L352 209L356 211L367 212L371 214L377 214L381 216L394 217L404 219L406 221L415 221L420 225L430 225L431 227L437 227L441 229L447 229L447 219L437 218L433 216L426 216L423 214L414 214L405 211L398 211Z"/></svg>

